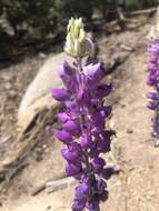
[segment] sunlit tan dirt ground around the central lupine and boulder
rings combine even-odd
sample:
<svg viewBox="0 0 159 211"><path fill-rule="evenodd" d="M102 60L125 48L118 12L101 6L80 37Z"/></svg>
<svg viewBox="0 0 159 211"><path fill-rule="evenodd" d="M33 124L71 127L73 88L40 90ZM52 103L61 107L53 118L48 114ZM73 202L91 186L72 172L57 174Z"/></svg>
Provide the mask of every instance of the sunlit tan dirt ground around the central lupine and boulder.
<svg viewBox="0 0 159 211"><path fill-rule="evenodd" d="M146 36L150 22L139 28L99 39L103 61L117 61L108 74L113 92L106 102L113 104L108 127L117 131L108 164L120 170L108 181L109 199L101 211L159 210L159 149L150 138L151 111L146 108L147 53ZM50 57L50 56L49 56ZM43 59L37 57L0 70L0 153L14 140L17 110L29 82ZM48 194L31 197L38 184L59 174L63 169L60 144L48 125L41 142L28 158L28 165L16 175L7 191L1 191L0 211L69 211L73 185Z"/></svg>

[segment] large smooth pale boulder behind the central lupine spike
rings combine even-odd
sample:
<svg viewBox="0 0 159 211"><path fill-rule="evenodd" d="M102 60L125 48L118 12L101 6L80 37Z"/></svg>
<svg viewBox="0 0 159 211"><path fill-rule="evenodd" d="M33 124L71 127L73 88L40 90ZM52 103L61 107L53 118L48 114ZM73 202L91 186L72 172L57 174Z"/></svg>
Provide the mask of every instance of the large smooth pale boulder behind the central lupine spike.
<svg viewBox="0 0 159 211"><path fill-rule="evenodd" d="M58 105L51 97L51 90L62 87L58 76L58 66L66 60L72 62L72 59L62 52L46 60L42 68L40 68L34 80L27 89L18 111L19 132L27 128L37 112L43 108Z"/></svg>

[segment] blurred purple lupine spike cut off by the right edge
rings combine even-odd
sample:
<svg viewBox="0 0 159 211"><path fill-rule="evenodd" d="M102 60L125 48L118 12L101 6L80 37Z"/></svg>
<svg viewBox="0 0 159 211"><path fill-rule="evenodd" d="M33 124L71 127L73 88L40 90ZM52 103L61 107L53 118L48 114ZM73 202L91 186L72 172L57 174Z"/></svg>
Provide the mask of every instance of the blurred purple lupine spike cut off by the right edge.
<svg viewBox="0 0 159 211"><path fill-rule="evenodd" d="M147 83L153 91L147 94L149 99L148 108L155 111L152 118L151 135L155 140L155 147L159 147L159 23L152 27L148 43L148 80Z"/></svg>

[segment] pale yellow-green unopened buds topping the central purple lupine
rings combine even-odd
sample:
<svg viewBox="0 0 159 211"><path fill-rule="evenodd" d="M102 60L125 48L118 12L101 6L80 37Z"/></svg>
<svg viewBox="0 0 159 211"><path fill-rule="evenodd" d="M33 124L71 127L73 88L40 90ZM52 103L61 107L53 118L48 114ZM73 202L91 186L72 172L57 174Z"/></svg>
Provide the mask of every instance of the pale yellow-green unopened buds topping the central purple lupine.
<svg viewBox="0 0 159 211"><path fill-rule="evenodd" d="M89 56L92 49L87 48L88 42L90 41L87 38L87 34L85 32L82 19L71 18L69 20L67 31L68 31L68 34L66 39L64 51L69 56L74 57L74 58L82 58L82 57Z"/></svg>

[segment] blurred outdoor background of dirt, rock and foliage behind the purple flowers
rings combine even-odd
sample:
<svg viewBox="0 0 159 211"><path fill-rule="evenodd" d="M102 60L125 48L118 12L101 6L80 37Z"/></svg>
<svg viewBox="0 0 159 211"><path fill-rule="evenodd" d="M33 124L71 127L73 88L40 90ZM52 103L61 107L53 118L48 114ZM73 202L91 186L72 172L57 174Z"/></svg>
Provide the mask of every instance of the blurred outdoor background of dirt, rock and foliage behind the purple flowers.
<svg viewBox="0 0 159 211"><path fill-rule="evenodd" d="M89 59L103 62L106 81L113 84L106 101L113 105L107 127L117 137L106 159L119 174L108 182L110 195L102 211L159 210L159 151L150 138L152 113L146 108L147 36L159 19L158 4L0 0L0 211L67 211L63 205L71 205L72 187L52 194L40 188L64 168L60 142L52 135L59 108L50 105L54 101L48 96L59 87L57 70L66 60L60 51L71 17L82 17L98 43Z"/></svg>

